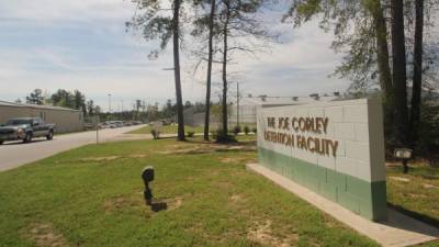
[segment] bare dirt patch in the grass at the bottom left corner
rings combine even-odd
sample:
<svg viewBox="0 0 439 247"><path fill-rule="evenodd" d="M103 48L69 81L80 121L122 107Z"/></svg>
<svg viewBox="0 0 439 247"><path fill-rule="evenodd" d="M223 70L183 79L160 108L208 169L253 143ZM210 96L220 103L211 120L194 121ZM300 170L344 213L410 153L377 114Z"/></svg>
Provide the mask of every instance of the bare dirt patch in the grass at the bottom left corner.
<svg viewBox="0 0 439 247"><path fill-rule="evenodd" d="M57 233L52 224L31 224L23 235L35 242L38 247L68 247L70 246L63 234Z"/></svg>

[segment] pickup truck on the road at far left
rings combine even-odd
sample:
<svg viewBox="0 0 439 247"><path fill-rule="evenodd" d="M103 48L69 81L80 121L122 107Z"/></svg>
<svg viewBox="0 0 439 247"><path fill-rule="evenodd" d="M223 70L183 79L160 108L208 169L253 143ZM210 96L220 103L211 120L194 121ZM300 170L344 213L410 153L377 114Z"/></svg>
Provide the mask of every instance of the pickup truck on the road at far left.
<svg viewBox="0 0 439 247"><path fill-rule="evenodd" d="M41 117L20 117L9 120L0 125L0 145L4 141L22 139L30 143L33 137L46 137L53 139L55 124L46 124Z"/></svg>

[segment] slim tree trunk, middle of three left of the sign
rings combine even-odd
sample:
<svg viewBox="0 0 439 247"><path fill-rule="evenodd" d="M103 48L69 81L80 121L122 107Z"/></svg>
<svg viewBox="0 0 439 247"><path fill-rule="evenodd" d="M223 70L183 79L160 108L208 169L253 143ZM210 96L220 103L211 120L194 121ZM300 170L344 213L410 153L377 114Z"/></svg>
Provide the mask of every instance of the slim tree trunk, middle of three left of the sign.
<svg viewBox="0 0 439 247"><path fill-rule="evenodd" d="M213 24L215 18L215 0L211 2L211 14L209 20L209 59L207 59L207 80L206 80L206 110L204 119L204 139L209 141L209 125L211 117L211 82L212 82L212 59L213 59Z"/></svg>

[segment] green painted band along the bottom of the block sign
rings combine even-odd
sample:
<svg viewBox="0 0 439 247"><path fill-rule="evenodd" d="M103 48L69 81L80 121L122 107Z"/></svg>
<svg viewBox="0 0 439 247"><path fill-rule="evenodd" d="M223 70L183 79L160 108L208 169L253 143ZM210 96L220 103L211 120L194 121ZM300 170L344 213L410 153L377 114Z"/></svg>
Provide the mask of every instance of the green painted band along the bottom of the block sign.
<svg viewBox="0 0 439 247"><path fill-rule="evenodd" d="M262 147L262 166L372 221L387 217L385 181L369 182Z"/></svg>

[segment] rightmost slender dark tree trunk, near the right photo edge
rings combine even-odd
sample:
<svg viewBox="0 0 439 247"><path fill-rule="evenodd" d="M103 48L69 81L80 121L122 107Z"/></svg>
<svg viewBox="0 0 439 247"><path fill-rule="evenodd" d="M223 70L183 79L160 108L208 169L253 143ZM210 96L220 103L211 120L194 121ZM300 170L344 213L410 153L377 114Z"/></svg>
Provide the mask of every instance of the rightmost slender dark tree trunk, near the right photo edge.
<svg viewBox="0 0 439 247"><path fill-rule="evenodd" d="M416 0L415 47L413 63L413 96L410 114L412 145L417 141L420 122L420 97L423 89L423 35L424 35L424 0Z"/></svg>

